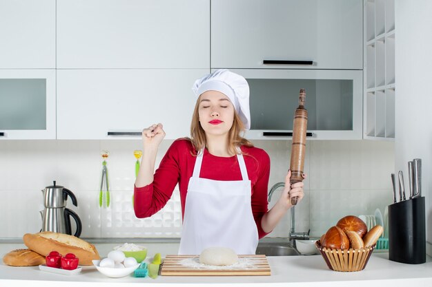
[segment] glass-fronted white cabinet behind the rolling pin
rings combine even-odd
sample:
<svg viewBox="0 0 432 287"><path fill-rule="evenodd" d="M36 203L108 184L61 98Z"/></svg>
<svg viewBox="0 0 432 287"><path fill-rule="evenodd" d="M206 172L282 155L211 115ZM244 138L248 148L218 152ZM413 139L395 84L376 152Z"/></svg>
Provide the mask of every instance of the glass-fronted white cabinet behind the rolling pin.
<svg viewBox="0 0 432 287"><path fill-rule="evenodd" d="M253 140L290 139L299 92L306 89L307 136L311 140L362 139L361 70L231 70L251 89Z"/></svg>

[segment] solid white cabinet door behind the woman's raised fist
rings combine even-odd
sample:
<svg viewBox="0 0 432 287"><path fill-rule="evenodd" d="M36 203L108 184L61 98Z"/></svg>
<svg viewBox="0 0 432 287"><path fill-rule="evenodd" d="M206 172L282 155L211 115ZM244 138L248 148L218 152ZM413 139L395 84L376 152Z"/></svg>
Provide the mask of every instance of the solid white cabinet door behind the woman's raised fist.
<svg viewBox="0 0 432 287"><path fill-rule="evenodd" d="M208 69L59 70L57 138L108 139L164 124L166 139L190 136L192 86Z"/></svg>

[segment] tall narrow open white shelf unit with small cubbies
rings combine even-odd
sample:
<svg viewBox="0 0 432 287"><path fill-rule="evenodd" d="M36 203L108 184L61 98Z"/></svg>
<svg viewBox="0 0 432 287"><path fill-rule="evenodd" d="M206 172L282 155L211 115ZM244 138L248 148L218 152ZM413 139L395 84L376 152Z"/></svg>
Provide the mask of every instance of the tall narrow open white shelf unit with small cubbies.
<svg viewBox="0 0 432 287"><path fill-rule="evenodd" d="M364 0L364 131L395 138L395 1Z"/></svg>

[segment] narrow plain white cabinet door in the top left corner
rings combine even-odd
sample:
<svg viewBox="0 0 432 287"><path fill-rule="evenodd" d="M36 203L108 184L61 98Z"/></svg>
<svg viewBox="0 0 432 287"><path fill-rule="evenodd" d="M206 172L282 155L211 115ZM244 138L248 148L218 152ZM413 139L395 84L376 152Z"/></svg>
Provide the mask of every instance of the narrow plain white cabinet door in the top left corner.
<svg viewBox="0 0 432 287"><path fill-rule="evenodd" d="M0 69L55 68L55 0L0 0Z"/></svg>

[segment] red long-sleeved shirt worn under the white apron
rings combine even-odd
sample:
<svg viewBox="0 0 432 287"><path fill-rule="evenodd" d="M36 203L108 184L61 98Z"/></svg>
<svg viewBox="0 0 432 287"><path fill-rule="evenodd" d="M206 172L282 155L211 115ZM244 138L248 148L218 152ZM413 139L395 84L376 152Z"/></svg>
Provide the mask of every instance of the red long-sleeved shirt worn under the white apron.
<svg viewBox="0 0 432 287"><path fill-rule="evenodd" d="M261 219L268 211L267 190L270 176L270 158L263 149L241 147L251 180L252 213L257 224L259 238L267 233L262 230ZM186 193L189 179L195 167L196 156L191 154L193 145L189 140L178 139L173 142L162 158L155 172L153 183L146 187L134 188L135 215L139 218L150 217L162 209L171 198L177 182L179 183L181 214L184 215ZM210 180L242 180L237 156L229 158L213 156L204 149L200 178Z"/></svg>

